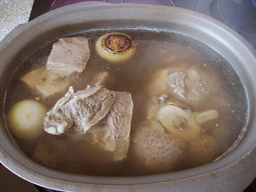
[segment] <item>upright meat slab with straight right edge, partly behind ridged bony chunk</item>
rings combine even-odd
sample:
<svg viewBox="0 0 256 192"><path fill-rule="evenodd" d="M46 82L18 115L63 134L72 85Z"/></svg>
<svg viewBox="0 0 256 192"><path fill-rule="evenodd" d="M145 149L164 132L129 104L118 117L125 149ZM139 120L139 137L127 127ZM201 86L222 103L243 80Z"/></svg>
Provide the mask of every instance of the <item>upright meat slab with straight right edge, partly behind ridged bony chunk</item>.
<svg viewBox="0 0 256 192"><path fill-rule="evenodd" d="M133 101L126 92L114 92L115 102L109 114L88 131L94 134L94 142L106 151L113 151L114 161L126 157L133 114Z"/></svg>

